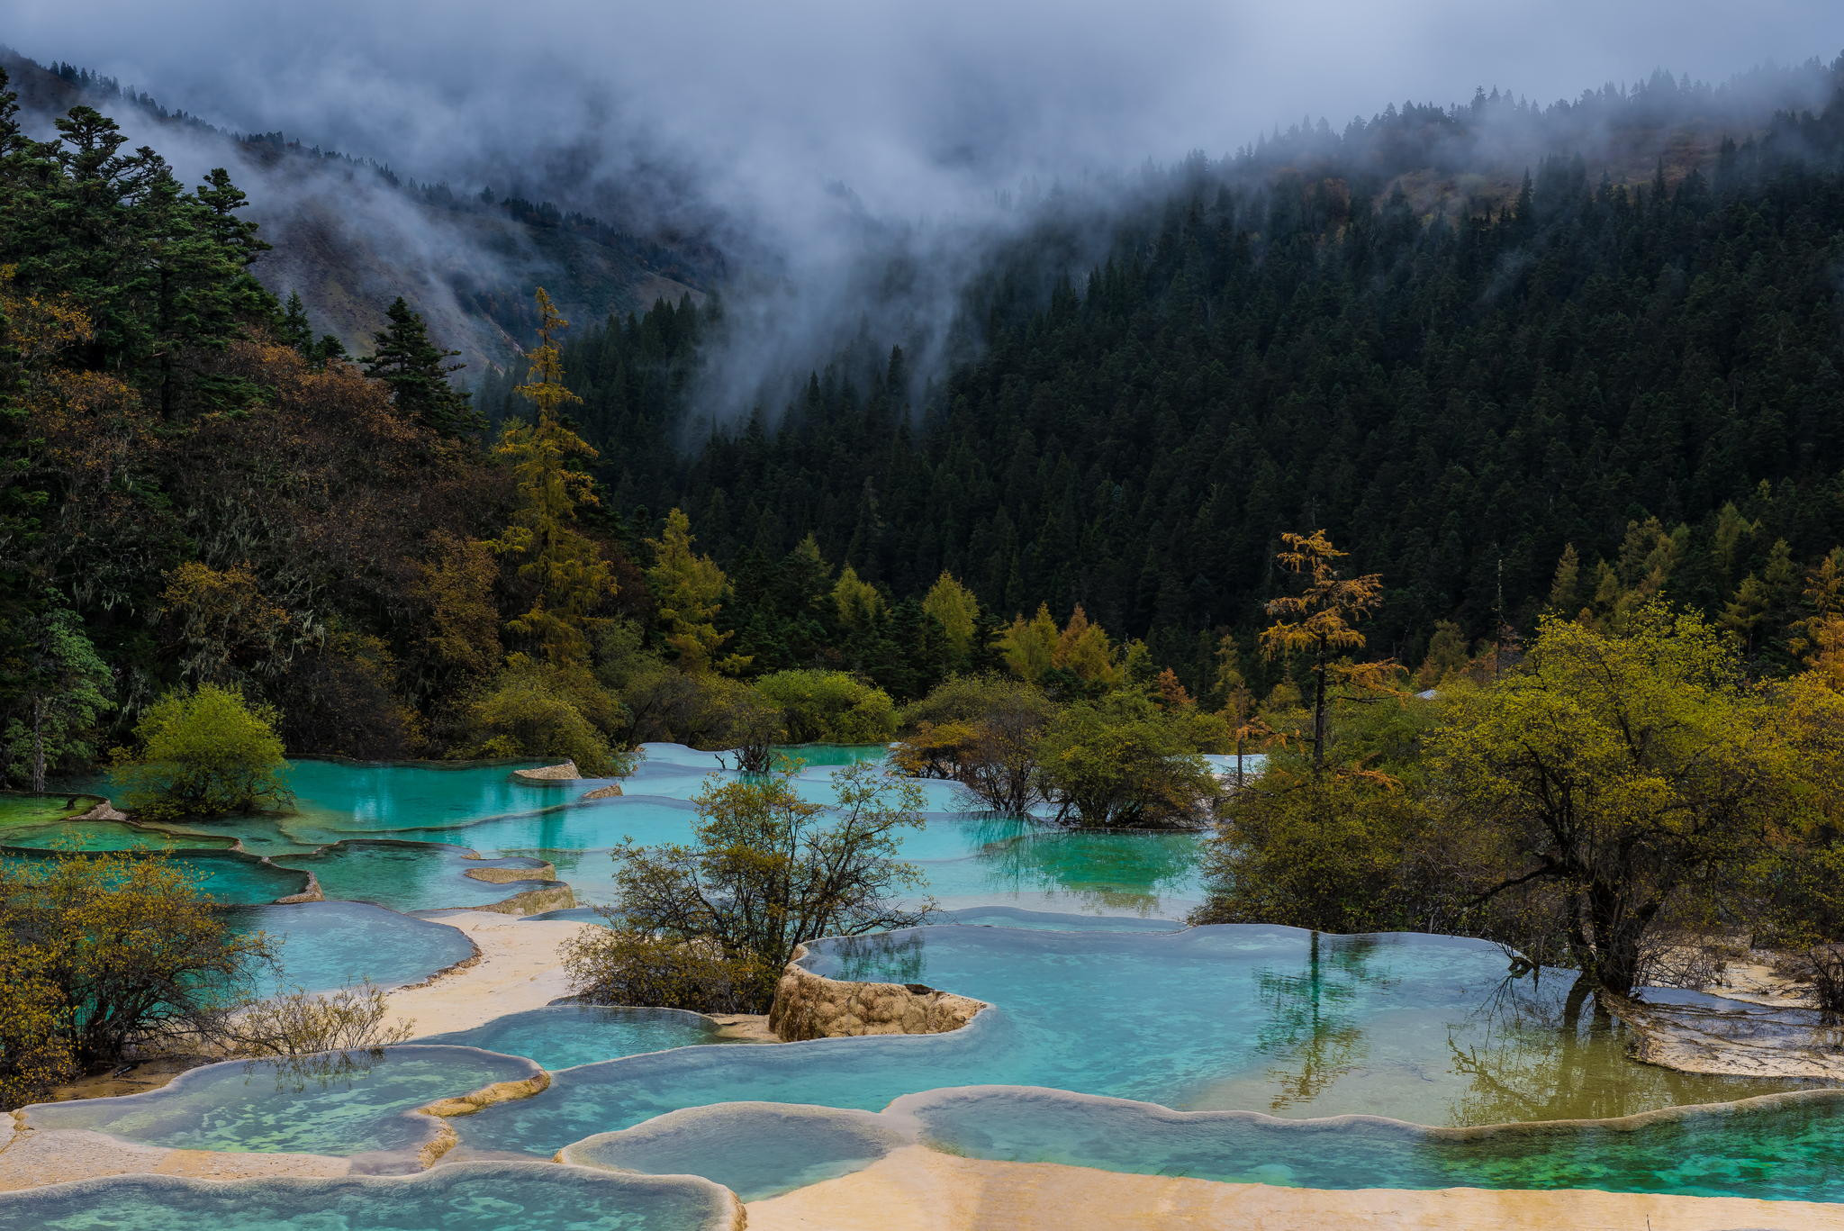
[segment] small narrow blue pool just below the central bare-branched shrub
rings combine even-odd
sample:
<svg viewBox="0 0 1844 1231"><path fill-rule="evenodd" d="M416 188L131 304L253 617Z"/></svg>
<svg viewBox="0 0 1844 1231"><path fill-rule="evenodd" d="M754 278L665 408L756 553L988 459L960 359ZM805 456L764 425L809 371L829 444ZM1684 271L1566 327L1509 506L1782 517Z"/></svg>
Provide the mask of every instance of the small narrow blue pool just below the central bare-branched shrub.
<svg viewBox="0 0 1844 1231"><path fill-rule="evenodd" d="M527 1013L507 1013L472 1030L428 1035L419 1043L478 1046L527 1056L546 1069L570 1069L618 1056L662 1052L669 1046L717 1043L715 1034L717 1022L684 1010L553 1004Z"/></svg>

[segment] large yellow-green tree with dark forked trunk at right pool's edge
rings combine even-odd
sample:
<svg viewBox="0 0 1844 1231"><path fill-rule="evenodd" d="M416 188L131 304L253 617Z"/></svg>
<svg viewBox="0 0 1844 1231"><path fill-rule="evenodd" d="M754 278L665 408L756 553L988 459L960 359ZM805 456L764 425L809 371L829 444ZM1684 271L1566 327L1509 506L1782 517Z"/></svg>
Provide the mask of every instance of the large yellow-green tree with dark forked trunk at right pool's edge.
<svg viewBox="0 0 1844 1231"><path fill-rule="evenodd" d="M1733 651L1658 605L1617 633L1545 620L1523 666L1459 698L1429 744L1459 827L1501 843L1477 901L1554 893L1573 965L1619 995L1663 926L1708 923L1798 808L1800 775Z"/></svg>

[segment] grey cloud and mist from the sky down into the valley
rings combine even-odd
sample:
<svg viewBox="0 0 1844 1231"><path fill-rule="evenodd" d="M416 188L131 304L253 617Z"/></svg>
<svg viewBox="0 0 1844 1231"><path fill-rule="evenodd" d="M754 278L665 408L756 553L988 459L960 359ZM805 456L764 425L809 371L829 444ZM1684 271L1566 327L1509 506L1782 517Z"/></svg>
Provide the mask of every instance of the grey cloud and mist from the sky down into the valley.
<svg viewBox="0 0 1844 1231"><path fill-rule="evenodd" d="M634 268L629 255L531 251L526 236L481 234L478 220L441 210L406 214L395 196L330 209L337 194L323 203L317 190L249 185L258 210L299 197L264 216L282 249L271 282L389 255L384 264L404 268L393 277L461 330L455 345L470 354L505 349L470 297L540 273L577 275L583 286L562 303L594 317L721 281L730 312L723 358L701 375L703 408L734 419L778 402L859 330L902 341L915 373L937 375L966 353L963 295L998 245L1055 201L1097 218L1086 247L1099 251L1106 216L1141 190L1149 161L1223 157L1302 118L1342 131L1403 100L1466 103L1479 87L1542 105L1661 66L1728 81L1844 44L1844 15L1781 2L1741 20L1713 0L1571 0L1529 13L1448 0L802 0L773 11L728 0L647 11L336 0L160 13L105 2L72 24L33 0L7 37L236 131L282 131L463 197L485 186L553 201L645 244L688 242L680 266ZM1785 102L1757 100L1750 122ZM1567 144L1602 138L1588 129ZM1477 131L1464 161L1516 181L1556 144L1549 137ZM1626 153L1643 164L1656 151ZM374 299L385 281L321 292L328 329L369 321L352 301ZM623 293L590 290L610 282Z"/></svg>

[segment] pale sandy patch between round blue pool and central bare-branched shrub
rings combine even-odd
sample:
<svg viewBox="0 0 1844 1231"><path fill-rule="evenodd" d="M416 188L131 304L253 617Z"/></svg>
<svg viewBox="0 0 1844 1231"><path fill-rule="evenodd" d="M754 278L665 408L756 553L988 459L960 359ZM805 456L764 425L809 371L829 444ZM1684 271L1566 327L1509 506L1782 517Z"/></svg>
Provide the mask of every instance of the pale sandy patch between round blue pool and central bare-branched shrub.
<svg viewBox="0 0 1844 1231"><path fill-rule="evenodd" d="M391 1022L408 1022L411 1037L472 1030L505 1013L544 1008L570 995L557 949L594 923L570 919L531 919L470 910L448 915L479 949L479 960L420 987L402 987L389 995Z"/></svg>

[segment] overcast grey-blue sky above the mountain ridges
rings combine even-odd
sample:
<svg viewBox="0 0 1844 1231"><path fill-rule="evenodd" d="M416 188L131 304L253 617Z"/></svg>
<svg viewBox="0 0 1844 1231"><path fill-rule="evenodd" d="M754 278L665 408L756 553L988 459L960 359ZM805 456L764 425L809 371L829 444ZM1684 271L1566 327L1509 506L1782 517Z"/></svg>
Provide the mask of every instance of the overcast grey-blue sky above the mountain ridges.
<svg viewBox="0 0 1844 1231"><path fill-rule="evenodd" d="M406 166L645 131L872 209L994 162L1224 153L1304 114L1844 50L1837 0L11 0L0 39Z"/></svg>

